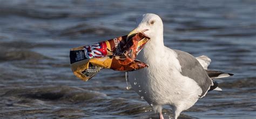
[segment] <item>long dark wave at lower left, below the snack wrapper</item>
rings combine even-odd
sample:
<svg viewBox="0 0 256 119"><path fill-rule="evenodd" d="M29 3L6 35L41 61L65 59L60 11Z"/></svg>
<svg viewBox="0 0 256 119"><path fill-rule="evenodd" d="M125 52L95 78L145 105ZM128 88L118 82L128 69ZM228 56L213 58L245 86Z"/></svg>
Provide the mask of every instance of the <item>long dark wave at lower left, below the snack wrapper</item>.
<svg viewBox="0 0 256 119"><path fill-rule="evenodd" d="M98 97L106 96L104 93L83 90L78 87L52 86L41 88L15 89L6 92L2 96L15 96L16 98L44 100L44 101L89 101Z"/></svg>

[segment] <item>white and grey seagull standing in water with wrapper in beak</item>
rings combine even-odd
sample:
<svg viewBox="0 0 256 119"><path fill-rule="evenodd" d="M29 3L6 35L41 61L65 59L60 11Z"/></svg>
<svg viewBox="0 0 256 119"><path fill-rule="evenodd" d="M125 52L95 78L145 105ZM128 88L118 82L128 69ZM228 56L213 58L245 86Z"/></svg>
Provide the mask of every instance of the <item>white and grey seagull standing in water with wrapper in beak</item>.
<svg viewBox="0 0 256 119"><path fill-rule="evenodd" d="M207 56L194 57L184 51L164 46L163 22L157 14L143 14L137 19L137 28L127 36L144 32L150 41L137 56L148 68L129 72L133 90L147 101L159 118L163 105L169 105L173 117L194 105L208 91L221 90L213 78L232 76L231 73L207 70L211 59ZM210 77L211 76L211 77Z"/></svg>

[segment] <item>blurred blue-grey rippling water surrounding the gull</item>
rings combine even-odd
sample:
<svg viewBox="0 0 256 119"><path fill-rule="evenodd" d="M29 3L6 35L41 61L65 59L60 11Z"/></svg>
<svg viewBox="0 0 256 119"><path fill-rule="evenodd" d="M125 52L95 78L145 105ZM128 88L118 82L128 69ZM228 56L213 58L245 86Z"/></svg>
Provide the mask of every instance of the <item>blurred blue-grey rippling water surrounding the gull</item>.
<svg viewBox="0 0 256 119"><path fill-rule="evenodd" d="M126 35L144 13L163 19L167 47L207 55L209 69L235 74L180 118L255 118L254 0L0 0L0 117L157 118L126 90L124 72L84 82L69 62L70 48Z"/></svg>

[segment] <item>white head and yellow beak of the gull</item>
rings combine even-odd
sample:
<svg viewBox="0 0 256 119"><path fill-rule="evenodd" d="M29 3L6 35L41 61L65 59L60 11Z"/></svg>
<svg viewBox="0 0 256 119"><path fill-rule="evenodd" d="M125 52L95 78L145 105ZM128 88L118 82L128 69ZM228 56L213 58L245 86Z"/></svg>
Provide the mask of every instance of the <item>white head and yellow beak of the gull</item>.
<svg viewBox="0 0 256 119"><path fill-rule="evenodd" d="M139 32L143 32L145 35L149 36L151 41L163 39L163 22L157 14L143 14L137 18L136 26L137 27L128 34L127 39Z"/></svg>

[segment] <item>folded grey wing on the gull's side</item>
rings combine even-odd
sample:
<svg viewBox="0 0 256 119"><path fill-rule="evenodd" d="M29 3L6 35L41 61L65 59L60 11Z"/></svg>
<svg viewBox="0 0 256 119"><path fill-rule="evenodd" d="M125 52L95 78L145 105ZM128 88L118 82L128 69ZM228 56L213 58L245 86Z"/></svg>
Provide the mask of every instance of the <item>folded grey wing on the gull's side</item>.
<svg viewBox="0 0 256 119"><path fill-rule="evenodd" d="M174 51L177 53L177 58L181 65L181 75L189 77L196 81L203 91L200 95L200 98L203 97L205 93L209 90L209 87L212 85L212 79L208 77L203 66L201 66L201 64L194 56L184 51Z"/></svg>

